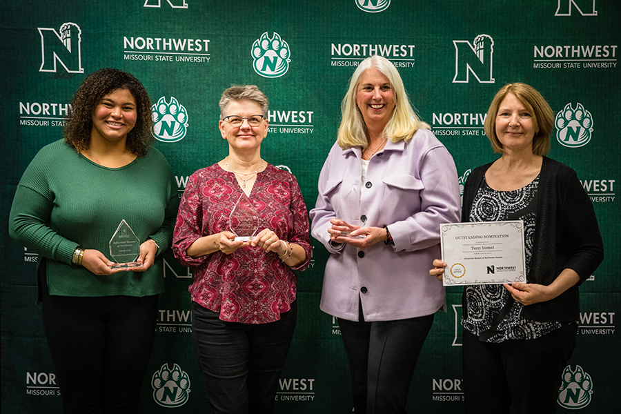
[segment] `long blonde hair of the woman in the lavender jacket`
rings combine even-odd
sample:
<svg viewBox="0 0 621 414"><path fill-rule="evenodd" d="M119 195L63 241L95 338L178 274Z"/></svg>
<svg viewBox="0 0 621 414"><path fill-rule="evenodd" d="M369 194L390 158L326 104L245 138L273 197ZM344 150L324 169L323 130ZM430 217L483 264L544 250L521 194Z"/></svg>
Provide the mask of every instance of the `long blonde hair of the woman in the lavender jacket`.
<svg viewBox="0 0 621 414"><path fill-rule="evenodd" d="M428 124L420 120L414 112L408 94L403 86L403 81L397 68L385 57L371 56L362 61L353 73L349 81L349 88L341 102L342 119L337 135L337 143L343 149L354 146L368 147L366 125L356 104L357 89L360 77L368 68L375 68L388 78L393 89L395 109L391 119L384 128L382 135L393 142L408 140L418 128L431 129Z"/></svg>

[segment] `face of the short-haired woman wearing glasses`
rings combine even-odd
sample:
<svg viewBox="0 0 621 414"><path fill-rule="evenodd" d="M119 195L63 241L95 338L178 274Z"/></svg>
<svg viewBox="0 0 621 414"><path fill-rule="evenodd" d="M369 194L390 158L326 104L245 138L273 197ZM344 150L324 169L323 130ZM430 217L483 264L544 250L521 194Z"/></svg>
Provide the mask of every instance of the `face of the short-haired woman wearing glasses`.
<svg viewBox="0 0 621 414"><path fill-rule="evenodd" d="M224 116L237 115L242 118L262 115L261 106L255 101L230 101L224 110ZM261 142L267 136L268 121L263 119L259 126L250 126L248 119L244 119L241 126L230 126L228 121L219 121L222 138L228 141L230 150L248 151L258 150Z"/></svg>

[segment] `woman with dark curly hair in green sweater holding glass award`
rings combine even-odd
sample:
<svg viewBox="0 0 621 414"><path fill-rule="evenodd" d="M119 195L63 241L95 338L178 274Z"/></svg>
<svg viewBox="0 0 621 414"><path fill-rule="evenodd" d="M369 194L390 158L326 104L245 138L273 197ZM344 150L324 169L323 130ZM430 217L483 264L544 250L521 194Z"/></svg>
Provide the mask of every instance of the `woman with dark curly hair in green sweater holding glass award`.
<svg viewBox="0 0 621 414"><path fill-rule="evenodd" d="M39 151L13 200L10 235L40 255L39 302L64 413L138 410L164 291L155 256L170 244L178 201L166 159L150 148L150 106L129 73L89 75L65 139ZM121 260L131 266L112 262L117 229L135 235L139 251Z"/></svg>

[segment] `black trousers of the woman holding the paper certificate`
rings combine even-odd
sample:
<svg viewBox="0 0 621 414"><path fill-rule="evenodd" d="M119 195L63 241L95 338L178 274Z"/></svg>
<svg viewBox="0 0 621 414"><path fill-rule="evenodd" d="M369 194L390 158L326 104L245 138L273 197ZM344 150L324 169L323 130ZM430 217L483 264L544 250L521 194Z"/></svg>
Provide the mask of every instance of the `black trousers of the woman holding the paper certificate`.
<svg viewBox="0 0 621 414"><path fill-rule="evenodd" d="M491 344L463 330L464 400L469 414L555 413L578 326L563 324L537 339Z"/></svg>

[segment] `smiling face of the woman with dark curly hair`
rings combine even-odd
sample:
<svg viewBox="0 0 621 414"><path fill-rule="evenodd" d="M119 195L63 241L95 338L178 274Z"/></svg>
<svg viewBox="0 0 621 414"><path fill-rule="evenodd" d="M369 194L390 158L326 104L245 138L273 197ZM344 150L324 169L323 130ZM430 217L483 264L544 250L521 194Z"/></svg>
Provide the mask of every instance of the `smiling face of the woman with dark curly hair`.
<svg viewBox="0 0 621 414"><path fill-rule="evenodd" d="M138 118L136 100L127 89L117 89L103 95L92 113L91 141L102 143L125 142Z"/></svg>

